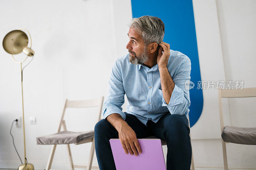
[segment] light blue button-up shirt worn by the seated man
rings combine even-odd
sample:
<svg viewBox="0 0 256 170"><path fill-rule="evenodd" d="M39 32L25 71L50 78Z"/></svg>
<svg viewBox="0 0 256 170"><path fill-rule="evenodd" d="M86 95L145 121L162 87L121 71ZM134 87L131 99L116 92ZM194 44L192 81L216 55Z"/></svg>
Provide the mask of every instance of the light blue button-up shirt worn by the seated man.
<svg viewBox="0 0 256 170"><path fill-rule="evenodd" d="M187 116L190 100L185 82L190 80L190 59L179 51L170 50L167 68L175 83L168 105L163 97L158 64L149 69L145 64L130 63L129 54L118 58L109 78L107 98L102 109L104 119L113 113L125 119L121 107L124 94L128 99L126 113L135 115L145 125L148 120L156 123L168 111Z"/></svg>

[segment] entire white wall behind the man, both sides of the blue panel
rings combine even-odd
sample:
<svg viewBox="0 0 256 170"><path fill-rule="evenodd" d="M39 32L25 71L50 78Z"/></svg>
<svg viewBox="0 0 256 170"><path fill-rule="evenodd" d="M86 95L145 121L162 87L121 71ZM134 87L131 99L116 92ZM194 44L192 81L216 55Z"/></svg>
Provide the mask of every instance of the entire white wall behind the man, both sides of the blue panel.
<svg viewBox="0 0 256 170"><path fill-rule="evenodd" d="M216 70L218 75L227 80L244 80L245 87L255 87L255 1L217 0L216 4L215 0L193 0L193 6L202 77L205 80L220 78L213 74L214 71L209 73L207 67L214 55L207 55L206 49L218 49L216 54L223 54L223 57L214 59L216 64L222 65ZM20 27L27 28L32 36L32 49L36 54L24 70L23 81L27 158L36 169L44 169L51 146L36 145L35 138L56 132L65 98L106 97L112 64L117 57L127 53L126 24L132 18L131 1L0 1L0 15L0 37ZM216 17L219 17L219 22ZM206 24L212 24L212 33L204 29ZM213 34L219 34L219 38ZM206 40L219 45L205 43ZM0 56L0 167L17 168L20 163L11 143L9 128L12 120L21 115L20 68L3 49ZM208 105L204 104L204 113L199 121L213 120L208 122L209 127L195 125L191 128L195 166L221 168L220 129L211 128L219 126L218 104L213 100L216 94L209 90L203 94ZM227 100L226 123L255 127L254 103L255 99ZM97 109L89 110L93 111ZM207 111L216 115L209 117ZM71 113L68 110L66 121L69 130L88 130L94 126L96 117L93 115L75 119L82 112ZM36 125L29 124L30 116L36 117ZM245 118L247 116L249 118ZM207 134L207 128L214 129L213 136ZM22 129L14 126L12 131L16 147L23 157ZM87 163L89 144L71 145L71 149L74 163ZM227 150L230 168L256 169L255 146L227 144ZM165 155L166 152L164 146ZM57 146L53 162L54 169L69 168L65 146ZM97 164L95 155L93 164Z"/></svg>

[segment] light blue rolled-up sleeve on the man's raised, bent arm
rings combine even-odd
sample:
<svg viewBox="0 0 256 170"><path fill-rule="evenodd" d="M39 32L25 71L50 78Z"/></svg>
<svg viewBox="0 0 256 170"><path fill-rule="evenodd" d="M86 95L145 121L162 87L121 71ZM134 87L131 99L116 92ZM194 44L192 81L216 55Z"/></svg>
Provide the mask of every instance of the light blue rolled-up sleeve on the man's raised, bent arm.
<svg viewBox="0 0 256 170"><path fill-rule="evenodd" d="M169 104L162 99L163 107L167 107L170 113L183 115L190 106L189 89L186 89L186 81L190 80L191 62L190 59L184 59L177 74L173 77L175 83Z"/></svg>

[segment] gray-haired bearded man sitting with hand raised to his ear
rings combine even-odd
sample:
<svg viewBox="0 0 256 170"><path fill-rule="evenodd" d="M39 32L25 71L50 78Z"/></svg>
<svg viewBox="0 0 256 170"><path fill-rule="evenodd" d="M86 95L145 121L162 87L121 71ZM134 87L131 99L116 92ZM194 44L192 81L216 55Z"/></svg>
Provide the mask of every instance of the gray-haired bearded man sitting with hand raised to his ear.
<svg viewBox="0 0 256 170"><path fill-rule="evenodd" d="M94 128L100 170L116 169L109 139L119 138L126 154L143 151L137 138L156 136L167 143L167 170L189 170L191 143L188 127L190 59L163 42L160 18L133 18L126 45L129 54L114 63L104 119ZM122 112L124 94L127 111Z"/></svg>

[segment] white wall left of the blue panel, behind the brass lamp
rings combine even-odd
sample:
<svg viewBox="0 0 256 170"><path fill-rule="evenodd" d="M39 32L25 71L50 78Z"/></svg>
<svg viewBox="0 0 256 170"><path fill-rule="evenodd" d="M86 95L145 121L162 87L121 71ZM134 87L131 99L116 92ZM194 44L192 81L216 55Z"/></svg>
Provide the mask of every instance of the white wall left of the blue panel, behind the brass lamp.
<svg viewBox="0 0 256 170"><path fill-rule="evenodd" d="M1 41L6 33L22 27L32 36L35 56L23 72L27 158L36 169L44 169L51 146L36 145L36 137L57 131L65 99L107 94L110 69L117 57L113 1L0 1L0 15ZM3 48L0 56L0 167L17 168L19 158L9 129L12 120L21 116L20 66ZM97 108L88 113L92 111ZM97 116L81 112L68 112L69 130L93 129ZM30 116L36 117L35 125L29 124ZM12 133L23 158L22 128L14 126ZM71 149L75 163L87 164L89 144L71 145ZM66 146L57 146L53 162L68 163L66 153ZM93 164L97 164L96 155Z"/></svg>

